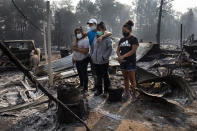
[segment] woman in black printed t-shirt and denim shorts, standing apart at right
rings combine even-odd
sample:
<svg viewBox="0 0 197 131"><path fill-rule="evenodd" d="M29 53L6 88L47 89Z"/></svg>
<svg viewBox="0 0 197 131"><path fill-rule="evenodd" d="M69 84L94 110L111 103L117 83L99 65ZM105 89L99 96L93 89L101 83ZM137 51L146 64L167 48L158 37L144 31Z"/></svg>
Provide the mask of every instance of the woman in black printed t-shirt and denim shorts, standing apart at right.
<svg viewBox="0 0 197 131"><path fill-rule="evenodd" d="M135 88L136 88L136 50L139 46L138 39L132 35L132 27L134 23L129 20L122 27L123 38L120 39L117 48L118 61L120 63L120 68L124 76L125 92L123 94L124 99L129 99L130 94L130 84L132 87L132 100L135 100Z"/></svg>

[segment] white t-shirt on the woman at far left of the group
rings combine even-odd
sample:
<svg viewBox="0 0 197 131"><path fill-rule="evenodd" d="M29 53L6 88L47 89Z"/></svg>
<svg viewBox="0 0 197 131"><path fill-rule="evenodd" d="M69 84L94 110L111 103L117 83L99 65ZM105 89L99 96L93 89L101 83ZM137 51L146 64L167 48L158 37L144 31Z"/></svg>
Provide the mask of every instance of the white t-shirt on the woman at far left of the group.
<svg viewBox="0 0 197 131"><path fill-rule="evenodd" d="M83 48L83 49L89 48L88 38L86 37L86 38L79 40L77 45L78 45L78 48ZM81 61L81 60L87 58L88 56L89 56L88 53L85 54L85 53L81 53L78 51L73 51L73 59L76 61Z"/></svg>

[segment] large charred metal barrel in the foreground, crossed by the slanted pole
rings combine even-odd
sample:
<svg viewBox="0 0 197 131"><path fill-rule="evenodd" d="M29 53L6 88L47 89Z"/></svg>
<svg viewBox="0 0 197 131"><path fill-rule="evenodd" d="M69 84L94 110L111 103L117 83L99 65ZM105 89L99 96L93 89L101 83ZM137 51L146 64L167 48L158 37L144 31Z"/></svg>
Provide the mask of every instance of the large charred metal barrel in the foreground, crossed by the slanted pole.
<svg viewBox="0 0 197 131"><path fill-rule="evenodd" d="M79 89L68 85L60 85L57 89L57 97L80 118L86 114L87 106L81 97ZM66 111L61 105L58 105L57 118L58 122L62 124L76 121L73 115Z"/></svg>

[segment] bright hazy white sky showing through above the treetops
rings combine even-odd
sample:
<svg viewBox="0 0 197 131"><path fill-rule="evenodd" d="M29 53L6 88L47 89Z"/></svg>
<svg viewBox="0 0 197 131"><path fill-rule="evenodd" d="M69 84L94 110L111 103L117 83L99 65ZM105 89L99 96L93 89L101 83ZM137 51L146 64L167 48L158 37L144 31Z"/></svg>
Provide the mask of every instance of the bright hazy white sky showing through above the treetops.
<svg viewBox="0 0 197 131"><path fill-rule="evenodd" d="M59 0L50 0L50 1L59 1ZM73 5L77 5L80 0L72 0ZM95 0L92 0L95 1ZM132 0L117 0L124 4L131 4ZM173 8L176 11L186 12L188 8L197 7L197 0L174 0Z"/></svg>

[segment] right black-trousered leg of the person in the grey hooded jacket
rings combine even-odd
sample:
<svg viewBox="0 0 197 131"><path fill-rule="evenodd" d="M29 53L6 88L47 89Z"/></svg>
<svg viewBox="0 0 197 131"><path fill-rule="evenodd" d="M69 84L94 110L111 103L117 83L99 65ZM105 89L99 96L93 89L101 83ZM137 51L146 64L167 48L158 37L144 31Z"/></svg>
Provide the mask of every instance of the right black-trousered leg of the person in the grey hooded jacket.
<svg viewBox="0 0 197 131"><path fill-rule="evenodd" d="M109 69L109 63L102 65L103 79L104 79L104 92L105 93L108 92L108 89L111 86L108 69Z"/></svg>

